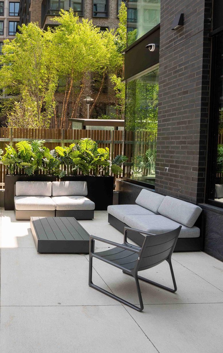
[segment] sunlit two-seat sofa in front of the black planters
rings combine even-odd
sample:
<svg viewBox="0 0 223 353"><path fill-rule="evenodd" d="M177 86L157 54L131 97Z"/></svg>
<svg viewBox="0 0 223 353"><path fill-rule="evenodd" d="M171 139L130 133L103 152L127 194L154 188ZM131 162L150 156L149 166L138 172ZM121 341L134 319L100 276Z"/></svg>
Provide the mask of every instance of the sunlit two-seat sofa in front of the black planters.
<svg viewBox="0 0 223 353"><path fill-rule="evenodd" d="M17 220L31 216L93 219L94 202L87 195L86 181L17 181L14 211Z"/></svg>

